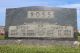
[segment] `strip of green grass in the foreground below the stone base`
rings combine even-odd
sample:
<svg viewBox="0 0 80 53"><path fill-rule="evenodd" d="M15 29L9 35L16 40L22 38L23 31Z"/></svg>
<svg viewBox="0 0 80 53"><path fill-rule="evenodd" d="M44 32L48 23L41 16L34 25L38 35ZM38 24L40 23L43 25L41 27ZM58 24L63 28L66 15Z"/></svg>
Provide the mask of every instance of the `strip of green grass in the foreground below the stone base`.
<svg viewBox="0 0 80 53"><path fill-rule="evenodd" d="M1 45L0 53L80 53L80 47Z"/></svg>

